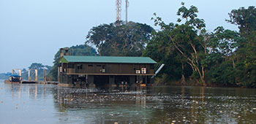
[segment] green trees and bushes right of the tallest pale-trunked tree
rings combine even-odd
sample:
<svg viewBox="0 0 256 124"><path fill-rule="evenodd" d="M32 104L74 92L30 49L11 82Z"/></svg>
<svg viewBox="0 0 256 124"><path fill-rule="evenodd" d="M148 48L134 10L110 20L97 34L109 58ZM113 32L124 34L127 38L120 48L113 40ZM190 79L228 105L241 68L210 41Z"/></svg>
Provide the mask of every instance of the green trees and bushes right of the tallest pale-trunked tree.
<svg viewBox="0 0 256 124"><path fill-rule="evenodd" d="M233 9L230 23L238 25L240 33L218 27L212 36L211 50L225 60L207 72L209 82L217 85L256 88L256 9Z"/></svg>

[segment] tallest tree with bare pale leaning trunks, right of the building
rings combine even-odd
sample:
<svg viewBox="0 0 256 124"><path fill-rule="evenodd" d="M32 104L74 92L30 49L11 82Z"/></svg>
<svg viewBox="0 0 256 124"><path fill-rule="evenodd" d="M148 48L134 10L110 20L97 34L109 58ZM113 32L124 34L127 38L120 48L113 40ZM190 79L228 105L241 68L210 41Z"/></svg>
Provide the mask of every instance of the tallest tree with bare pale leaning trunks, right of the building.
<svg viewBox="0 0 256 124"><path fill-rule="evenodd" d="M186 60L191 69L194 72L194 76L199 75L200 81L203 85L206 85L204 75L205 66L201 64L201 61L206 56L205 41L203 36L198 36L198 32L205 31L206 24L203 19L197 18L197 7L191 6L189 9L184 7L184 3L181 3L182 7L178 9L177 15L181 15L177 22L180 23L185 19L185 23L171 28L169 36L169 43L175 47L182 60ZM161 18L155 18L155 22L160 24L162 29L165 29L167 25L162 22ZM170 26L170 24L169 24ZM205 48L205 49L204 49ZM182 66L183 67L183 66Z"/></svg>

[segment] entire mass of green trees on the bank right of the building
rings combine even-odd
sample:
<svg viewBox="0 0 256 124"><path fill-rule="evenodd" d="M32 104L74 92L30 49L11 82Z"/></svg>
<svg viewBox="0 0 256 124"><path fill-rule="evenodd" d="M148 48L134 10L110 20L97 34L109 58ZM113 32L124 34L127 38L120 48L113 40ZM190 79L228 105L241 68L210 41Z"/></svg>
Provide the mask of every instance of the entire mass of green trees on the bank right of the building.
<svg viewBox="0 0 256 124"><path fill-rule="evenodd" d="M238 25L240 32L222 26L206 32L197 12L197 7L187 8L181 3L177 24L165 24L154 13L151 19L161 30L151 34L143 55L165 63L165 79L177 80L185 74L208 85L256 88L255 7L242 7L229 14L227 21Z"/></svg>

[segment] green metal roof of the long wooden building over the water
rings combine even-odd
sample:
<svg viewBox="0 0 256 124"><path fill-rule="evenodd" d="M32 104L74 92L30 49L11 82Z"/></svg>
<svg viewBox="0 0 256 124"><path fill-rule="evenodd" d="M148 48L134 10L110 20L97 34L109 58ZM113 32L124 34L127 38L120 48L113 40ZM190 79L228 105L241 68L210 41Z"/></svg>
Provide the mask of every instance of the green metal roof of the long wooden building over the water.
<svg viewBox="0 0 256 124"><path fill-rule="evenodd" d="M119 56L74 56L64 55L60 63L157 63L148 57L119 57Z"/></svg>

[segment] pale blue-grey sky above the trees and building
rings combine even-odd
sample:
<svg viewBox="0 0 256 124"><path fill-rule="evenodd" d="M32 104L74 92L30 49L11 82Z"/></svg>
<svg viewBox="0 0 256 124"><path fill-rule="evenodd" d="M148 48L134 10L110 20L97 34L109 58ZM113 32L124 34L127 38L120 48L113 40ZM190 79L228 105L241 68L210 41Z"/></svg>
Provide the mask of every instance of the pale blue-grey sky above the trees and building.
<svg viewBox="0 0 256 124"><path fill-rule="evenodd" d="M238 31L225 22L228 12L256 4L256 0L183 1L186 7L199 9L198 18L206 21L208 31L217 26ZM157 12L165 23L176 23L179 7L180 0L129 0L128 19L153 26L151 17ZM27 69L34 62L52 66L60 47L84 44L93 26L115 19L115 0L0 0L0 73Z"/></svg>

